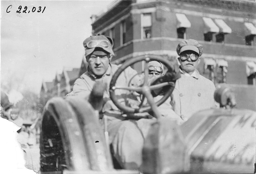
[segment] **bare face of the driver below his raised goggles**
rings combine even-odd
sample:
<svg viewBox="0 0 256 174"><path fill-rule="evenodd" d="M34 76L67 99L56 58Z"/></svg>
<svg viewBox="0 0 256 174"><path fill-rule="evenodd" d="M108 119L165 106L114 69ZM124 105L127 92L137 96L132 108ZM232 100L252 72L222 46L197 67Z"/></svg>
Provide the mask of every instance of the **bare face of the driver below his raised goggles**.
<svg viewBox="0 0 256 174"><path fill-rule="evenodd" d="M96 77L101 77L108 70L108 65L111 60L109 54L93 52L87 57L89 69Z"/></svg>

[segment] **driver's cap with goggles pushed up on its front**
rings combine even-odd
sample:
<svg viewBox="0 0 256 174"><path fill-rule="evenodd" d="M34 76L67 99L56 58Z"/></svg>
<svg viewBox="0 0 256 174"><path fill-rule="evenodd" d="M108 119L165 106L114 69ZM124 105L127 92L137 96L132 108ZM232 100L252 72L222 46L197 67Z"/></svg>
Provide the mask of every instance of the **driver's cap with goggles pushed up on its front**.
<svg viewBox="0 0 256 174"><path fill-rule="evenodd" d="M85 48L85 57L93 53L95 48L102 48L104 51L115 55L113 52L113 40L110 37L104 35L91 36L83 41L83 47Z"/></svg>

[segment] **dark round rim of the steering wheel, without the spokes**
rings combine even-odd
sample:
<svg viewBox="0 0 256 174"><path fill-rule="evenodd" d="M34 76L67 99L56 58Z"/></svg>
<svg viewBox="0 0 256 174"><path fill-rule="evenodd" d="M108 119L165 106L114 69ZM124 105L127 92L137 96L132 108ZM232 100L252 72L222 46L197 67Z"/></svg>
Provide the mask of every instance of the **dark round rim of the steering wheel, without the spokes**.
<svg viewBox="0 0 256 174"><path fill-rule="evenodd" d="M132 108L130 106L123 105L118 101L118 98L115 95L115 83L116 83L118 77L121 75L121 73L126 68L128 68L128 66L135 64L137 62L143 61L143 60L145 60L147 62L149 62L151 60L156 60L156 61L163 63L169 71L174 70L174 64L172 64L169 60L164 59L160 55L141 55L141 56L135 57L133 59L130 59L130 60L124 62L124 64L122 64L122 66L119 67L119 69L114 73L114 75L110 81L109 94L110 94L111 100L117 106L117 108L119 108L120 110L122 110L124 113L127 113L127 114L128 113L148 112L148 111L152 110L151 106L145 106L143 108L137 109L137 108ZM146 68L145 68L145 77L147 75L146 74L147 72L148 72L148 70L146 70ZM169 85L170 85L170 88L167 90L167 92L164 93L163 97L159 101L156 102L156 106L160 106L162 103L164 103L168 99L168 97L171 95L171 93L173 92L174 86L171 84L169 84Z"/></svg>

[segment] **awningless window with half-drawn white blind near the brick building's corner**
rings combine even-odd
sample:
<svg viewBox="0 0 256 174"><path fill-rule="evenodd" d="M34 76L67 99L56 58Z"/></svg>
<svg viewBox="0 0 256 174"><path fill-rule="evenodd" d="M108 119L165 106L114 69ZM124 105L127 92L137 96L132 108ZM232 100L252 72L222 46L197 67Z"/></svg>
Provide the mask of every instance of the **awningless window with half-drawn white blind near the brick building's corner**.
<svg viewBox="0 0 256 174"><path fill-rule="evenodd" d="M151 13L142 14L141 19L141 38L150 38L152 28L152 16Z"/></svg>

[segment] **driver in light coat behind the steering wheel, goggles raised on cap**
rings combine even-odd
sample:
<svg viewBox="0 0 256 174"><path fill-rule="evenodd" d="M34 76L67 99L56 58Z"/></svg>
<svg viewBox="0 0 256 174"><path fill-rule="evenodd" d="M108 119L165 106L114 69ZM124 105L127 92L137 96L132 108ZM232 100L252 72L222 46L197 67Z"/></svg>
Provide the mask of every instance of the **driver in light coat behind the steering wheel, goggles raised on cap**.
<svg viewBox="0 0 256 174"><path fill-rule="evenodd" d="M122 168L137 170L142 164L142 149L144 139L148 133L146 130L150 129L151 124L154 123L155 120L125 120L126 118L122 115L121 111L109 98L110 81L115 71L121 66L110 63L114 55L112 50L113 40L104 35L98 35L86 38L83 42L83 46L85 48L88 68L87 71L75 81L73 91L67 96L76 95L85 99L91 99L91 92L93 92L95 87L98 87L98 83L96 82L106 84L107 88L103 95L104 104L100 113L103 114L104 122L107 120L105 123L108 127L109 145L113 148L113 156ZM159 62L157 63L158 64L152 64L153 68L150 67L150 69L152 68L150 71L154 71L155 74L163 72L163 67L158 68ZM137 71L130 67L126 68L117 79L116 86L124 86L125 84L128 86L130 84L130 78L135 77L136 74ZM175 72L169 73L169 71L167 71L165 74L165 79L170 81L176 81L179 77L180 72L178 71L178 67ZM141 81L139 81L139 79L137 80L138 81L134 84L140 85L139 82ZM154 82L157 82L157 80ZM125 102L123 99L137 101L137 96L132 97L132 94L129 92L117 92L116 95L120 95L122 99L120 102ZM169 107L169 109L171 109L171 107ZM149 115L148 113L145 114Z"/></svg>

